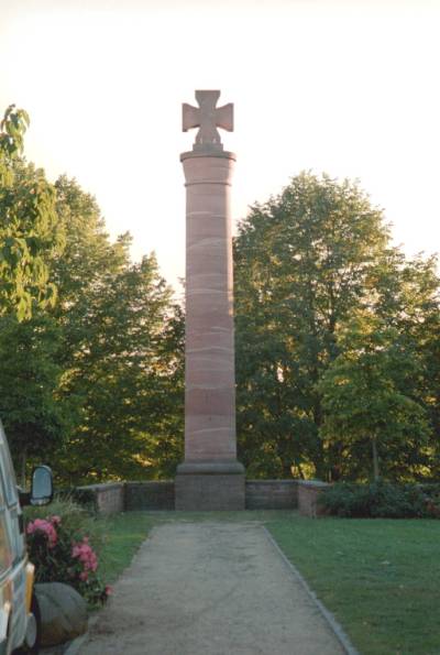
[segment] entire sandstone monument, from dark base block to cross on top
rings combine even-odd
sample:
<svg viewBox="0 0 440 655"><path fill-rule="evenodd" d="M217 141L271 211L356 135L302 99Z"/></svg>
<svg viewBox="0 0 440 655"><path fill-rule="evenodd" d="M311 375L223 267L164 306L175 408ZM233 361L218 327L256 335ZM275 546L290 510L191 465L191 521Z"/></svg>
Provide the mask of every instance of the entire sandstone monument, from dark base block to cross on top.
<svg viewBox="0 0 440 655"><path fill-rule="evenodd" d="M196 91L183 129L200 128L180 155L186 181L185 461L176 510L244 509L237 460L235 362L230 189L235 155L218 127L232 131L233 107L220 91Z"/></svg>

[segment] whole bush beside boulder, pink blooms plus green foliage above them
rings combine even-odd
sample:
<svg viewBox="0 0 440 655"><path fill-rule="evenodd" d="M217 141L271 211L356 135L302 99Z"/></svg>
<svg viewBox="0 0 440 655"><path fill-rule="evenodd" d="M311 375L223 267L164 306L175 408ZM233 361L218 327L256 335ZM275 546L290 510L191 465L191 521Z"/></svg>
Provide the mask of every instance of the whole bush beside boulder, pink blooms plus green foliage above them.
<svg viewBox="0 0 440 655"><path fill-rule="evenodd" d="M55 501L51 515L41 507L25 512L26 541L36 582L72 585L89 604L105 602L110 593L98 572L102 543L96 522L72 500ZM44 514L46 514L45 510Z"/></svg>

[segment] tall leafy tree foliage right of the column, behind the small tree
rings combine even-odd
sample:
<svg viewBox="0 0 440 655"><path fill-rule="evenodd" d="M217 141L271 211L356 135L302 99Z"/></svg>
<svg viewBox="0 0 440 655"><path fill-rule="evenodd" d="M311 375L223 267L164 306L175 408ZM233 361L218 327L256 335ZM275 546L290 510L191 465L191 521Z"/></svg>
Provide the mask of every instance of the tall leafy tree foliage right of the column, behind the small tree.
<svg viewBox="0 0 440 655"><path fill-rule="evenodd" d="M394 443L406 452L406 463L414 449L403 424L408 427L418 412L420 430L413 441L424 441L428 432L432 443L432 422L427 427L422 418L432 401L432 378L421 332L438 316L435 261L407 261L392 248L382 211L356 183L309 173L293 178L278 197L251 208L239 228L234 256L239 446L251 474L282 477L293 468L299 476L332 480L371 470L371 447L358 448L355 457L348 451L350 435L337 434L337 403L329 400L328 371L338 375L338 367L349 364L353 396L365 399L367 391L369 402L383 403L382 417L395 412ZM351 321L363 315L381 321L382 337L399 337L399 352L385 357L377 346L370 381L360 374L365 361L350 359L344 341ZM429 335L426 350L435 341ZM397 384L399 367L409 357L417 365ZM388 384L393 402L386 396ZM364 423L367 418L371 413ZM352 427L361 429L354 416ZM405 457L389 460L385 472L402 473Z"/></svg>

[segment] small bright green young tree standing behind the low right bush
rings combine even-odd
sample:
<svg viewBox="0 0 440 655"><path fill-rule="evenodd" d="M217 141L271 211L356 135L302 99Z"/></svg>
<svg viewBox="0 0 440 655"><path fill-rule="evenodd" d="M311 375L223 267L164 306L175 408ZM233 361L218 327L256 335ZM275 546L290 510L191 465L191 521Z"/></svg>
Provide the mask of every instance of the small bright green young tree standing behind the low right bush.
<svg viewBox="0 0 440 655"><path fill-rule="evenodd" d="M419 375L418 359L410 356L395 328L367 313L360 313L340 337L342 352L319 383L324 419L321 435L337 441L344 452L344 477L382 473L406 474L416 469L427 447L427 415L407 395L408 380ZM371 449L371 458L369 457ZM350 466L346 467L346 462Z"/></svg>

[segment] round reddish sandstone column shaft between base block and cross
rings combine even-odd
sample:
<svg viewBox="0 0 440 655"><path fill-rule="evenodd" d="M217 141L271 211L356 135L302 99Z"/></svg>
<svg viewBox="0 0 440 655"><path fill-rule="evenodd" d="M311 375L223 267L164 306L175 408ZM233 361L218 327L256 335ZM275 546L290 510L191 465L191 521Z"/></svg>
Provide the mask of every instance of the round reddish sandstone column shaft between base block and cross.
<svg viewBox="0 0 440 655"><path fill-rule="evenodd" d="M234 155L182 155L186 200L185 461L237 461L230 184Z"/></svg>

